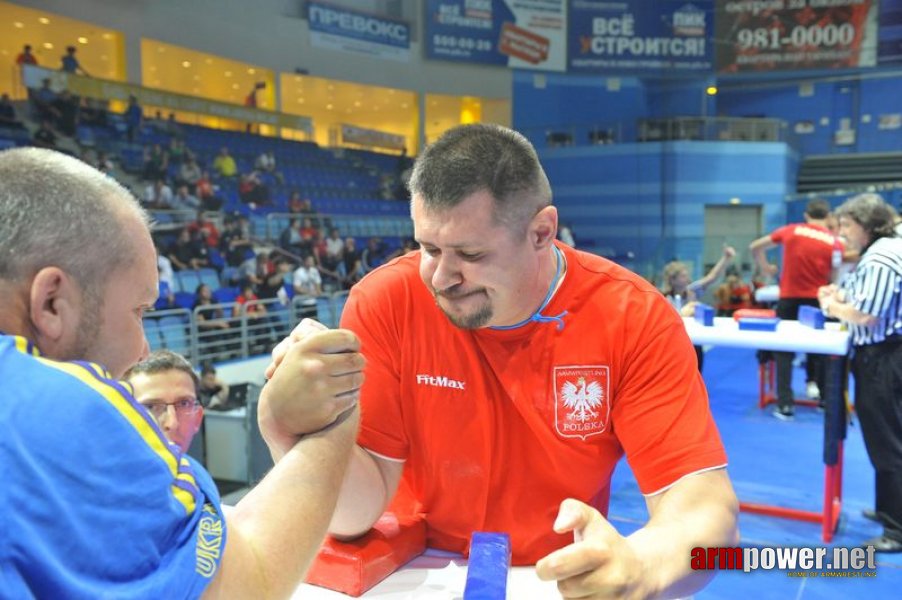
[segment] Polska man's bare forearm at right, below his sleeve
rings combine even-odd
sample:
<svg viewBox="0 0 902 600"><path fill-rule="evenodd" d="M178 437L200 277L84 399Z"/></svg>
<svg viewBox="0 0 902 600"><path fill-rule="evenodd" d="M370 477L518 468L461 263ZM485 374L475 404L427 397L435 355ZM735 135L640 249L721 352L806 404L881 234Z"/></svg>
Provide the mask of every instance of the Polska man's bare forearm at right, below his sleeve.
<svg viewBox="0 0 902 600"><path fill-rule="evenodd" d="M692 549L732 547L738 543L739 504L726 473L722 473L726 485L696 486L694 493L662 498L646 526L627 538L645 565L649 597L693 594L712 573L691 569Z"/></svg>

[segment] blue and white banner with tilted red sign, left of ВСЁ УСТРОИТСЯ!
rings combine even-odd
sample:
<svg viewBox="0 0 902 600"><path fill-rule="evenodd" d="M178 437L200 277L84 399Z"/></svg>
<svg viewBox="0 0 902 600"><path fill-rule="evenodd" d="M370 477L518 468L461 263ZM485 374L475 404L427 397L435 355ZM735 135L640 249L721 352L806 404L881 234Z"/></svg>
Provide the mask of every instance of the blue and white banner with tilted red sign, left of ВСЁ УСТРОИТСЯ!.
<svg viewBox="0 0 902 600"><path fill-rule="evenodd" d="M426 56L564 71L566 0L429 0Z"/></svg>

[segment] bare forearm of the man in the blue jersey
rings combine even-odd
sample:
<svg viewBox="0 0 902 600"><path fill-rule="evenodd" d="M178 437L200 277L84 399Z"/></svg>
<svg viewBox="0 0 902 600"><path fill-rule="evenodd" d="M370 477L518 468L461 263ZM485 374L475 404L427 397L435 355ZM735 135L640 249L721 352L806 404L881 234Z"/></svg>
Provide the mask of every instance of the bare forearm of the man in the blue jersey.
<svg viewBox="0 0 902 600"><path fill-rule="evenodd" d="M223 597L288 598L303 580L335 508L359 414L303 437L227 514Z"/></svg>

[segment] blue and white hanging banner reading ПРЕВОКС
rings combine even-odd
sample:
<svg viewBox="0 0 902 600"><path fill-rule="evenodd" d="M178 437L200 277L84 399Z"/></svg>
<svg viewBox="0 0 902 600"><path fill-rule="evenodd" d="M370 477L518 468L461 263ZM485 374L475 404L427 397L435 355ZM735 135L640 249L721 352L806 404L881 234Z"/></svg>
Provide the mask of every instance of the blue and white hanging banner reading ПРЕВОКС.
<svg viewBox="0 0 902 600"><path fill-rule="evenodd" d="M307 3L310 43L318 48L410 60L410 26L319 2Z"/></svg>

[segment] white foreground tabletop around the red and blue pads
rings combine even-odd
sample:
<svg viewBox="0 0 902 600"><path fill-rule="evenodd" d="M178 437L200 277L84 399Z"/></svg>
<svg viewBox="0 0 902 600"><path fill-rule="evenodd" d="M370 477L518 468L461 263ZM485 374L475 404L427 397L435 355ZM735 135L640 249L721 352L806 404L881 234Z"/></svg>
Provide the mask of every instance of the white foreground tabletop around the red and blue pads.
<svg viewBox="0 0 902 600"><path fill-rule="evenodd" d="M362 598L382 600L460 600L467 581L467 563L459 554L427 550L381 583ZM340 592L308 584L301 584L293 598L296 600L336 600L350 598ZM553 581L539 581L533 567L513 567L507 581L508 598L545 600L561 595Z"/></svg>

